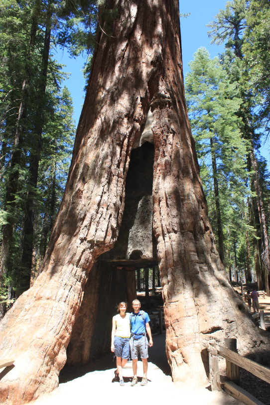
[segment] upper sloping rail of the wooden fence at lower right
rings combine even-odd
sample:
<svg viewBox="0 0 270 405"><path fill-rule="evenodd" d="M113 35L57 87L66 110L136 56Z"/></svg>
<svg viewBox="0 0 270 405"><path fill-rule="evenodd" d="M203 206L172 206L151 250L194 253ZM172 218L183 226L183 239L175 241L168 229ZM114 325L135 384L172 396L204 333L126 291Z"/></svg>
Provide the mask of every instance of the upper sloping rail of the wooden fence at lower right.
<svg viewBox="0 0 270 405"><path fill-rule="evenodd" d="M242 367L242 369L249 371L256 377L259 377L270 384L270 369L268 367L262 366L253 360L240 356L238 353L234 353L231 350L219 345L217 345L217 351L220 356L230 360L232 363Z"/></svg>

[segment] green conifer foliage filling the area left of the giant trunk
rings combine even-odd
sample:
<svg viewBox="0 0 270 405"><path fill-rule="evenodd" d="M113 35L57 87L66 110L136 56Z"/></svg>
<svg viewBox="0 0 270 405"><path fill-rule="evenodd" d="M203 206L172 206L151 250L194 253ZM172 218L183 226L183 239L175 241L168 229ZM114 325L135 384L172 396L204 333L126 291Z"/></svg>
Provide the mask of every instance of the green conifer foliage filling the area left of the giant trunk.
<svg viewBox="0 0 270 405"><path fill-rule="evenodd" d="M46 54L46 35L53 46L79 54L94 34L94 11L96 4L89 1L0 0L0 223L10 239L8 267L0 271L5 302L11 302L21 274L29 271L21 263L27 209L34 213L33 274L41 265L75 136L72 100L67 88L61 89L67 75L52 47Z"/></svg>

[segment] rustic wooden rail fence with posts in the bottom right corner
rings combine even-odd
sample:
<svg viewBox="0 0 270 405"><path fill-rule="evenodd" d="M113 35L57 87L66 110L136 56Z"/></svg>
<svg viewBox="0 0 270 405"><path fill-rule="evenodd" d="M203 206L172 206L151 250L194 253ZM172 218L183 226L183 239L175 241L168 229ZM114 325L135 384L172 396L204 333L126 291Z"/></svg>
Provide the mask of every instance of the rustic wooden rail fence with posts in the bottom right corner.
<svg viewBox="0 0 270 405"><path fill-rule="evenodd" d="M225 392L230 394L235 399L242 401L247 405L264 405L261 401L257 400L253 395L238 386L239 367L249 371L261 380L270 384L270 368L262 366L253 360L240 356L237 353L237 340L225 339L225 347L216 344L215 340L203 342L204 346L208 349L209 353L209 380L211 383L212 391L224 389ZM218 366L218 355L226 359L226 373L227 379L221 382Z"/></svg>

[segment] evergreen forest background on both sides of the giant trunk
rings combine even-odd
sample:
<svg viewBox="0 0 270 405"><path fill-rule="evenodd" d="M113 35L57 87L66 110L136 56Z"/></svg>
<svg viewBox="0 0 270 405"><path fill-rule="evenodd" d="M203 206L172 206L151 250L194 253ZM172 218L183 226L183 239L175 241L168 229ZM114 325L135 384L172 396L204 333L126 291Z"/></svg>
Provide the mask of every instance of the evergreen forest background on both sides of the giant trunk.
<svg viewBox="0 0 270 405"><path fill-rule="evenodd" d="M0 317L36 278L46 251L100 29L98 6L109 21L117 18L103 3L0 0ZM209 1L200 5L207 14L198 14L198 3L180 2L182 14L191 12L181 17L181 34L209 217L230 280L257 280L269 294L270 173L260 150L268 150L270 130L270 3ZM200 18L192 20L195 11ZM197 49L207 31L214 58ZM72 61L73 101L65 85Z"/></svg>

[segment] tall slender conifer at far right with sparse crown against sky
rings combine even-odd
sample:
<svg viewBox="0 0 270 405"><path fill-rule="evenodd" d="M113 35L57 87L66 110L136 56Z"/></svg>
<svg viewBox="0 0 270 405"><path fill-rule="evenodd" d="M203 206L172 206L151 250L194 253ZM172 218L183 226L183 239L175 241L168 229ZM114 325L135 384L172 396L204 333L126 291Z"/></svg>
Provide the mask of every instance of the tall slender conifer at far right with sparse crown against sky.
<svg viewBox="0 0 270 405"><path fill-rule="evenodd" d="M260 261L257 260L256 254L256 269L259 288L264 288L269 295L269 281L268 274L270 269L270 245L268 236L268 225L266 220L265 202L263 199L263 192L261 181L259 177L258 153L256 150L260 146L260 134L258 134L258 123L254 119L254 109L256 101L246 85L244 75L244 58L243 42L244 42L244 28L247 27L247 2L244 0L234 0L228 2L225 11L220 11L215 17L215 20L209 24L212 30L209 34L213 38L213 42L222 43L227 41L225 46L232 48L235 55L235 60L238 59L237 64L241 68L241 72L237 72L236 76L232 76L233 82L238 82L240 86L240 96L242 99L241 108L238 111L238 116L241 118L240 130L242 137L249 142L248 155L247 155L247 168L251 172L251 190L253 192L251 223L257 229L257 239L254 240L255 245L258 244L260 253ZM228 52L228 54L230 51ZM234 63L235 63L234 60ZM239 74L240 73L240 74ZM244 80L243 80L244 79ZM257 251L257 246L254 247ZM260 281L262 280L262 284Z"/></svg>

